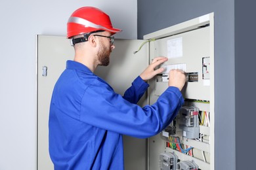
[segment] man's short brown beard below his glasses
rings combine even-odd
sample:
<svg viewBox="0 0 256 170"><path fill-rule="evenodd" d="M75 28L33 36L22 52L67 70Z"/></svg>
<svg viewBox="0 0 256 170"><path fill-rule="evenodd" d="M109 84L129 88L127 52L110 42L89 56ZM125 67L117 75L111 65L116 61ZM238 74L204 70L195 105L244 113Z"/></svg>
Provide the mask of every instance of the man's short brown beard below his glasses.
<svg viewBox="0 0 256 170"><path fill-rule="evenodd" d="M110 53L112 52L111 48L100 45L100 50L98 51L98 65L108 66L110 63Z"/></svg>

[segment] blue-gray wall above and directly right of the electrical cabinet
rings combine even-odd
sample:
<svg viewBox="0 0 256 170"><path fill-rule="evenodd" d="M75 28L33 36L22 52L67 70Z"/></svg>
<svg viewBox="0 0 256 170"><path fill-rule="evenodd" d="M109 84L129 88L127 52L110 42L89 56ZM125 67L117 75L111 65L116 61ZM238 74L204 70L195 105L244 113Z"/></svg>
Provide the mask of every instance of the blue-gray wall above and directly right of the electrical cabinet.
<svg viewBox="0 0 256 170"><path fill-rule="evenodd" d="M237 109L234 84L234 0L138 0L138 39L210 12L215 12L215 169L234 170ZM237 107L241 109L240 105ZM242 124L246 124L246 121ZM242 143L240 146L243 146ZM237 164L240 167L240 163Z"/></svg>

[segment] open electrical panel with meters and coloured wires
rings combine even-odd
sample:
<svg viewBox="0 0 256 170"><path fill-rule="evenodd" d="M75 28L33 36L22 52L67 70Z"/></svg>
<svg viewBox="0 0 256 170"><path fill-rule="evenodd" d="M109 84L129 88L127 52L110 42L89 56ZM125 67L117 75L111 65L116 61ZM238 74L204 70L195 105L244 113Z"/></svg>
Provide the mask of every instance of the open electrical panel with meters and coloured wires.
<svg viewBox="0 0 256 170"><path fill-rule="evenodd" d="M149 35L150 59L167 56L165 71L150 80L152 105L168 87L169 71L186 74L184 105L160 134L148 141L149 169L214 169L213 14ZM177 161L176 161L177 160Z"/></svg>

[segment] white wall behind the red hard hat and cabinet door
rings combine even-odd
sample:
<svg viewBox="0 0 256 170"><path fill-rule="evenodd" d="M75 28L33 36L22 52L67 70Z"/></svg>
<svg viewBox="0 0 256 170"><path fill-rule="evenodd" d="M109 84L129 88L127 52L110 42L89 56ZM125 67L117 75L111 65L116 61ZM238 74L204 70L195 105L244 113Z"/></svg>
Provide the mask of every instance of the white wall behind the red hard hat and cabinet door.
<svg viewBox="0 0 256 170"><path fill-rule="evenodd" d="M0 170L35 169L35 35L66 36L79 7L94 6L137 39L137 0L25 0L0 2Z"/></svg>

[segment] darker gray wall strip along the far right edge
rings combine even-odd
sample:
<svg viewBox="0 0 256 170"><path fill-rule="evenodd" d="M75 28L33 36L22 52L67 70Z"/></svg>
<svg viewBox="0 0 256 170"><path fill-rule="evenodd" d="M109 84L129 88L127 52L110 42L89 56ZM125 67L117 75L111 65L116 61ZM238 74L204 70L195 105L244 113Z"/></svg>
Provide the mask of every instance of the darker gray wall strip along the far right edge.
<svg viewBox="0 0 256 170"><path fill-rule="evenodd" d="M236 169L256 169L256 1L235 0Z"/></svg>

